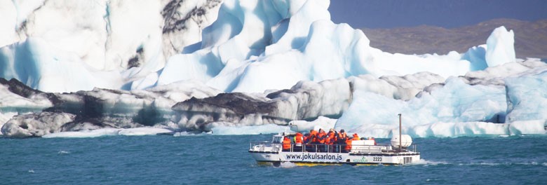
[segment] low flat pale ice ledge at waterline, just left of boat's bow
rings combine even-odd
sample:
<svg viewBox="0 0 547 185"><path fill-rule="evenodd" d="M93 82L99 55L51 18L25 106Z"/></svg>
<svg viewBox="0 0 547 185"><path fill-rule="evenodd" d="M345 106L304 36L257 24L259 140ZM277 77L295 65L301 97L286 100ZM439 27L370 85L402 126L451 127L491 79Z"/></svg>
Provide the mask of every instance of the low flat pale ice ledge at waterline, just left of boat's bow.
<svg viewBox="0 0 547 185"><path fill-rule="evenodd" d="M288 132L288 126L268 124L256 126L217 126L211 128L212 135L260 135Z"/></svg>

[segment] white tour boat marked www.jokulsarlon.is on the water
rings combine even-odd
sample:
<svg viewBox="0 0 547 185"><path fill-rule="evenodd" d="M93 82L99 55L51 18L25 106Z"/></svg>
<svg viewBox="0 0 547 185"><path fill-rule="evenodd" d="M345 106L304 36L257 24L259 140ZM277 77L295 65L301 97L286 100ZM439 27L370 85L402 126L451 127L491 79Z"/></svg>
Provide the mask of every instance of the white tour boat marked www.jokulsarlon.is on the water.
<svg viewBox="0 0 547 185"><path fill-rule="evenodd" d="M399 114L400 125L400 114ZM376 144L373 139L359 139L347 144L290 144L283 149L283 139L295 134L274 135L271 142L251 142L249 153L259 164L294 163L295 165L404 165L420 160L410 135L396 135L391 144Z"/></svg>

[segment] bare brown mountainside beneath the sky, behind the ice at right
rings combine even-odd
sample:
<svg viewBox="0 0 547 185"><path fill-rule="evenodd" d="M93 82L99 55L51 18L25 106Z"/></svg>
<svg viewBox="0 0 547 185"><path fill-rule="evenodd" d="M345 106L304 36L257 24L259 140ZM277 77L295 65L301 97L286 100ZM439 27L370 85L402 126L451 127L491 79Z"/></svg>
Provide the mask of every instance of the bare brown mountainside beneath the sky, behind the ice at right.
<svg viewBox="0 0 547 185"><path fill-rule="evenodd" d="M485 44L492 30L500 26L515 32L515 53L518 58L547 58L547 20L496 19L453 29L422 25L362 30L370 39L370 46L389 53L441 55L451 50L464 53L468 48Z"/></svg>

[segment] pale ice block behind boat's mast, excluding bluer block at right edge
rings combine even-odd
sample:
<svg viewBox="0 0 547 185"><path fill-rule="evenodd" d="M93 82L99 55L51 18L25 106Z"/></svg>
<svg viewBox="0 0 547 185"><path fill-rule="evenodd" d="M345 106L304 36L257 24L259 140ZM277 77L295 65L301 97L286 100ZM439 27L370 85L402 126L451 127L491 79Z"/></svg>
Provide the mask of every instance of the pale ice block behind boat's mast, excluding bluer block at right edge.
<svg viewBox="0 0 547 185"><path fill-rule="evenodd" d="M360 125L393 124L398 122L398 113L406 118L405 125L490 120L499 123L505 111L504 88L468 85L451 77L442 88L407 102L357 89L336 128L353 130Z"/></svg>

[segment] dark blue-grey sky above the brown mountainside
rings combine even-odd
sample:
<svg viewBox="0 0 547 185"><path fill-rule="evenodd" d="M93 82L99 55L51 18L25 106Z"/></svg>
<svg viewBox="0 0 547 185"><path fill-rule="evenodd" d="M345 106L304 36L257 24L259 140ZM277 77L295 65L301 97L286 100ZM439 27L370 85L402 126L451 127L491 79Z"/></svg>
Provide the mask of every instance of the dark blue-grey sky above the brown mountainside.
<svg viewBox="0 0 547 185"><path fill-rule="evenodd" d="M547 19L547 0L331 0L335 23L354 28L475 25L496 18Z"/></svg>

